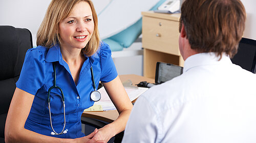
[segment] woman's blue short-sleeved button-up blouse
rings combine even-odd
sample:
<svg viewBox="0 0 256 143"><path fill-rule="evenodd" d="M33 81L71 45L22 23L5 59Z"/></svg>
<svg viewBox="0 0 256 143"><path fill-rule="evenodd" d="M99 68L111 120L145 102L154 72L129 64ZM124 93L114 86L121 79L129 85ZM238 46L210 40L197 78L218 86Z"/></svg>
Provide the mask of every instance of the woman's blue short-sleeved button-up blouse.
<svg viewBox="0 0 256 143"><path fill-rule="evenodd" d="M90 93L94 91L90 68L93 67L96 86L99 81L109 82L117 77L117 71L111 58L108 44L102 42L99 50L92 56L85 56L77 85L75 84L68 64L62 59L59 45L51 48L38 46L27 51L22 72L16 87L35 95L25 123L25 128L39 134L60 138L83 137L81 132L81 115L84 109L92 106L94 101ZM53 85L53 62L56 64L56 85L65 96L66 127L68 133L51 135L48 109L48 90ZM97 87L96 87L97 88ZM63 128L63 106L59 90L52 90L51 113L54 130L59 133Z"/></svg>

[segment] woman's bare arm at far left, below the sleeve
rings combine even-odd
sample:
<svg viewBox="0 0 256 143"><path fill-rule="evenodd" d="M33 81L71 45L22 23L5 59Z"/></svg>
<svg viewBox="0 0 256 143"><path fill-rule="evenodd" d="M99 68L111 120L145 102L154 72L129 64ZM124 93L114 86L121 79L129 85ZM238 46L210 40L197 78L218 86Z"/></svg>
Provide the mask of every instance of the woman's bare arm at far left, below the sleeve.
<svg viewBox="0 0 256 143"><path fill-rule="evenodd" d="M69 142L70 140L41 135L24 128L33 100L34 95L16 88L6 118L6 142Z"/></svg>

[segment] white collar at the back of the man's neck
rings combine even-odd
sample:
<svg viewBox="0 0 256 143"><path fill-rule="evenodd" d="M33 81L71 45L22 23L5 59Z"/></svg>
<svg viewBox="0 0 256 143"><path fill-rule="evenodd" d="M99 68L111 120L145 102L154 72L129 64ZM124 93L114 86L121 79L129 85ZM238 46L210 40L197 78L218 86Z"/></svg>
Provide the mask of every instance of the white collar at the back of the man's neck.
<svg viewBox="0 0 256 143"><path fill-rule="evenodd" d="M232 64L229 56L222 54L221 60L220 56L216 56L215 52L208 53L198 53L189 56L184 62L183 72L187 72L189 69L205 66L205 65L217 65L217 64Z"/></svg>

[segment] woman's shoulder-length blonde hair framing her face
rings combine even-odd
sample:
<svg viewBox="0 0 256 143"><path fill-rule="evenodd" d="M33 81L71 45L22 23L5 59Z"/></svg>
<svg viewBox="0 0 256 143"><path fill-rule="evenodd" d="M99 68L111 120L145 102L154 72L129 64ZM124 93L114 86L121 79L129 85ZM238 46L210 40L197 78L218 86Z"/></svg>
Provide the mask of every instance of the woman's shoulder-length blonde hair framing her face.
<svg viewBox="0 0 256 143"><path fill-rule="evenodd" d="M91 56L98 50L100 45L98 18L91 0L52 0L37 31L37 46L41 45L50 48L60 43L58 24L61 20L67 18L74 6L81 1L85 1L90 5L94 21L93 35L82 51L87 56Z"/></svg>

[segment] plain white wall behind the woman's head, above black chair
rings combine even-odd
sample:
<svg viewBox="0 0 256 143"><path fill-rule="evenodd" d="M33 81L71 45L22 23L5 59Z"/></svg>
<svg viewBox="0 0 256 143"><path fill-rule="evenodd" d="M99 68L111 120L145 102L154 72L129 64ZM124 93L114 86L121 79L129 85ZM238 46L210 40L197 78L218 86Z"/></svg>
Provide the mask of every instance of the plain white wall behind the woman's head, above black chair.
<svg viewBox="0 0 256 143"><path fill-rule="evenodd" d="M92 0L100 12L111 0ZM51 0L0 0L0 25L28 28L36 45L36 33Z"/></svg>

